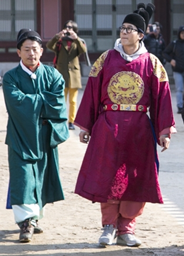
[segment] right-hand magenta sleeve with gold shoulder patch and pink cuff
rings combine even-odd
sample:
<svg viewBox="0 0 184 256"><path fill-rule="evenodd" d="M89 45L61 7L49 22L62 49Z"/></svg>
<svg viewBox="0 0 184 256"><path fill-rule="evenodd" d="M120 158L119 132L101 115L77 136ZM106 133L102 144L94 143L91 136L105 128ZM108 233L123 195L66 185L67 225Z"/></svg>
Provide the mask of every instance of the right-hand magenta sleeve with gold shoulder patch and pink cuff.
<svg viewBox="0 0 184 256"><path fill-rule="evenodd" d="M172 127L170 131L176 132L176 129L167 72L156 56L150 54L150 58L153 65L153 73L151 77L149 112L159 144L159 136L163 130Z"/></svg>

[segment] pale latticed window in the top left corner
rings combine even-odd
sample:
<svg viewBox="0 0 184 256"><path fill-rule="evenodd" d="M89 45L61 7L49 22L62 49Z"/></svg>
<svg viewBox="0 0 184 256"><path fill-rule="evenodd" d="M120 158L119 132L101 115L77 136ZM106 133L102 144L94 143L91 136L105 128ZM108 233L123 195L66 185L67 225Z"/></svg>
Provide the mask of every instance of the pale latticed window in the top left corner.
<svg viewBox="0 0 184 256"><path fill-rule="evenodd" d="M36 0L0 0L0 41L16 41L22 28L36 29Z"/></svg>

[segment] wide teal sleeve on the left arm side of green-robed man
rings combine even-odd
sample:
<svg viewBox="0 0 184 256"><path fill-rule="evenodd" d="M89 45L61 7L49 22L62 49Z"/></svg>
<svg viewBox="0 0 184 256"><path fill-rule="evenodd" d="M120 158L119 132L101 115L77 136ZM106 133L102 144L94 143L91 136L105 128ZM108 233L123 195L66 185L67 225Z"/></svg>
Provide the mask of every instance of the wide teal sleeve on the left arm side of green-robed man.
<svg viewBox="0 0 184 256"><path fill-rule="evenodd" d="M15 73L3 77L3 93L8 112L5 143L25 160L42 158L42 135L39 133L43 99L37 94L25 94L18 88ZM40 143L41 142L41 143Z"/></svg>

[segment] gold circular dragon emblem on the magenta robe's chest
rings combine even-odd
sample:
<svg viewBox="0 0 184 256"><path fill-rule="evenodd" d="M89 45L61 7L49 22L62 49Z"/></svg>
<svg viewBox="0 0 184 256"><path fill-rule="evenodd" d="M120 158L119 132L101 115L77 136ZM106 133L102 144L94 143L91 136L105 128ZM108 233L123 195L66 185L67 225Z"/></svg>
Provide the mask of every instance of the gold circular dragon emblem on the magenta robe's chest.
<svg viewBox="0 0 184 256"><path fill-rule="evenodd" d="M116 104L137 104L144 93L144 82L134 72L118 72L109 82L107 92Z"/></svg>

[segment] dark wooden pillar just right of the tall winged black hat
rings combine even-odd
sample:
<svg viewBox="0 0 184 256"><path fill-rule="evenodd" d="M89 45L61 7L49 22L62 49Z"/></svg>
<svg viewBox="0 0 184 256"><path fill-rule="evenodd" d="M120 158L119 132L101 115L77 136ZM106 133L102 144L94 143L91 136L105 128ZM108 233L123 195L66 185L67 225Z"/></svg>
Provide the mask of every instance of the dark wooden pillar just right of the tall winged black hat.
<svg viewBox="0 0 184 256"><path fill-rule="evenodd" d="M155 0L155 21L158 21L162 25L162 35L168 45L171 41L170 29L171 29L171 1L170 0Z"/></svg>

